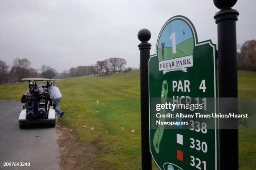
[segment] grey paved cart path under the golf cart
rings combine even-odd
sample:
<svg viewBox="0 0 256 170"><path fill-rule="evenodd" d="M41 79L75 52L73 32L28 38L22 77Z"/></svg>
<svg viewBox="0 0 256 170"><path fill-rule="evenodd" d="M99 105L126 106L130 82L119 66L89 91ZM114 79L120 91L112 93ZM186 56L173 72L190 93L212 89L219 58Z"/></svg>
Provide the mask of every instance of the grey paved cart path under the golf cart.
<svg viewBox="0 0 256 170"><path fill-rule="evenodd" d="M55 128L20 129L21 109L20 102L0 100L0 170L60 170ZM29 162L30 166L4 167L4 162Z"/></svg>

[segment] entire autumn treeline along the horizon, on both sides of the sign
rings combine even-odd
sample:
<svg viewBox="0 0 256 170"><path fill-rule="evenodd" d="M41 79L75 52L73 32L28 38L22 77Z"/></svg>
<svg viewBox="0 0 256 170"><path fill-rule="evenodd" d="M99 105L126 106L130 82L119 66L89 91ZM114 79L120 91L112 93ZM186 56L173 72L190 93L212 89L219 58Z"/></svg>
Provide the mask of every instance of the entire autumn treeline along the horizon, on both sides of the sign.
<svg viewBox="0 0 256 170"><path fill-rule="evenodd" d="M238 45L238 70L256 71L256 40L248 40L243 45ZM132 68L125 69L126 61L123 58L112 57L103 61L97 61L94 65L72 67L58 73L54 68L43 65L40 69L31 67L27 58L15 58L10 67L0 60L0 83L20 82L26 77L41 78L64 78L84 75L110 75L115 72L127 72Z"/></svg>

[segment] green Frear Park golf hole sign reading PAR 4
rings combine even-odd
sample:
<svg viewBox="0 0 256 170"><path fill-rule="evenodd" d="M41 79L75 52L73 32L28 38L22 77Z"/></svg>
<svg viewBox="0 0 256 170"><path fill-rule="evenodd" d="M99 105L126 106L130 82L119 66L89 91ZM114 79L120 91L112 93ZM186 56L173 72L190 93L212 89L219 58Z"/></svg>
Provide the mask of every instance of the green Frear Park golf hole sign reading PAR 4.
<svg viewBox="0 0 256 170"><path fill-rule="evenodd" d="M192 119L186 110L177 108L156 110L156 103L182 100L208 107L207 97L217 97L216 59L216 45L211 40L198 42L186 17L175 16L164 24L156 55L148 61L150 151L159 169L218 170L216 119ZM216 112L216 105L200 112L206 110ZM177 113L185 116L175 117ZM174 125L165 123L168 116L161 116L171 114L174 117L169 120L176 122Z"/></svg>

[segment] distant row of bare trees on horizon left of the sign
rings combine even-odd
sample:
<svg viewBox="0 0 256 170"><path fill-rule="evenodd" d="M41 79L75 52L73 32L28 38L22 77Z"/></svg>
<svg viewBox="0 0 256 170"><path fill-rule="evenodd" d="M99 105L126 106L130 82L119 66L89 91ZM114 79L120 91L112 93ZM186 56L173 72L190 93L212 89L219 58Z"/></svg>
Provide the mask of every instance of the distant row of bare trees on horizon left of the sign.
<svg viewBox="0 0 256 170"><path fill-rule="evenodd" d="M0 60L0 83L21 82L22 78L64 78L84 75L110 75L115 72L127 72L132 68L125 69L126 61L123 58L112 57L103 61L97 61L90 66L72 67L58 73L54 68L42 65L40 69L31 67L31 62L27 58L15 58L13 65L10 67L6 62Z"/></svg>

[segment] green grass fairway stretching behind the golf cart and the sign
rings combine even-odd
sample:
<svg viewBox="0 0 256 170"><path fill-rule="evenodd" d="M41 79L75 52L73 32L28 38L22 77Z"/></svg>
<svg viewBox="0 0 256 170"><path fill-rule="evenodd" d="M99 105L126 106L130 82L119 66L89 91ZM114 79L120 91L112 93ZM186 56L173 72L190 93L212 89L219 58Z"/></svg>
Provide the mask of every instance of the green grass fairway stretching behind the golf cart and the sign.
<svg viewBox="0 0 256 170"><path fill-rule="evenodd" d="M97 159L107 167L141 169L138 70L108 77L72 77L56 86L63 95L60 107L66 112L61 121L73 129L78 141L96 145ZM26 90L27 83L0 85L0 98L20 100ZM238 72L238 91L239 97L256 97L256 72ZM255 141L256 130L239 131L240 170L256 169Z"/></svg>

